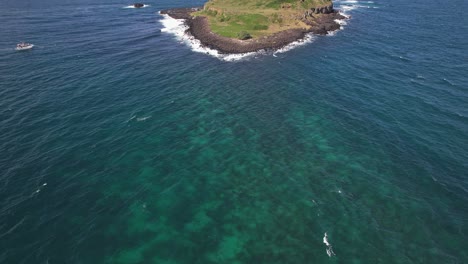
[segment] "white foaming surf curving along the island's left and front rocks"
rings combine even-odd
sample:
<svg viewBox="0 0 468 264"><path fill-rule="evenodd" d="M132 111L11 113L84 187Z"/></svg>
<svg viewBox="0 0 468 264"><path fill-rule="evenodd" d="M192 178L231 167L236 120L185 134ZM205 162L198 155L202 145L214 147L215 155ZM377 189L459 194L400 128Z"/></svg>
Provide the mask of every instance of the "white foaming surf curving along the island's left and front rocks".
<svg viewBox="0 0 468 264"><path fill-rule="evenodd" d="M163 29L161 29L161 32L166 32L175 35L177 40L180 41L180 43L188 45L195 52L205 53L224 61L238 61L266 54L273 54L273 56L276 57L276 54L285 53L293 48L312 43L315 39L315 36L312 33L310 33L307 34L303 39L294 41L281 49L275 50L274 52L267 52L262 50L242 54L223 54L215 49L203 46L199 40L195 39L192 35L188 34L188 26L184 23L183 19L174 19L166 14L163 14L162 16L163 19L161 20L161 23L163 25Z"/></svg>

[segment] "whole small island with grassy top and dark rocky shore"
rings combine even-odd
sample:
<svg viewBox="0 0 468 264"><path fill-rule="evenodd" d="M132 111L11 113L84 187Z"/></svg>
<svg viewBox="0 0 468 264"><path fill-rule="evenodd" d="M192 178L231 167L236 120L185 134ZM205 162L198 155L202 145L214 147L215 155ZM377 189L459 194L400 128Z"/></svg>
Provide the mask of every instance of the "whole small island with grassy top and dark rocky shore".
<svg viewBox="0 0 468 264"><path fill-rule="evenodd" d="M331 0L209 0L161 14L184 19L191 35L222 53L279 49L310 32L337 30L336 20L345 18Z"/></svg>

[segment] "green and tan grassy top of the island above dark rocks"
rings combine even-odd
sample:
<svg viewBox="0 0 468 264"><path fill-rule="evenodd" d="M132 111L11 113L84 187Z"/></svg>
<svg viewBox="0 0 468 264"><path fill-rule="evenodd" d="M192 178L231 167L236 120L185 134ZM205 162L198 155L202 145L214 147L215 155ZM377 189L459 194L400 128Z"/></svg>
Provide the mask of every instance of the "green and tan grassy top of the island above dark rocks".
<svg viewBox="0 0 468 264"><path fill-rule="evenodd" d="M306 10L331 0L210 0L196 16L208 18L211 31L237 39L259 38L293 28L309 28L300 18Z"/></svg>

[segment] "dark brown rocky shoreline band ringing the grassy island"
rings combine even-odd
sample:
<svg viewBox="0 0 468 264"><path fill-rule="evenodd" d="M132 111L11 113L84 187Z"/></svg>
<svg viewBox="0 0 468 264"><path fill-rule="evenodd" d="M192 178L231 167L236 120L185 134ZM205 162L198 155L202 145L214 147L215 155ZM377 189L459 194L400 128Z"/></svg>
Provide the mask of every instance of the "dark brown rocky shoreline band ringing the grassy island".
<svg viewBox="0 0 468 264"><path fill-rule="evenodd" d="M183 19L188 26L187 33L198 39L203 46L215 49L224 54L242 54L256 52L260 50L278 50L295 41L304 39L307 33L326 35L329 32L340 29L340 24L336 20L345 17L333 10L328 14L315 17L309 24L310 29L288 29L271 34L262 38L239 40L219 36L210 30L206 17L192 17L191 13L201 10L196 8L176 8L162 10L162 15L168 15L174 19Z"/></svg>

